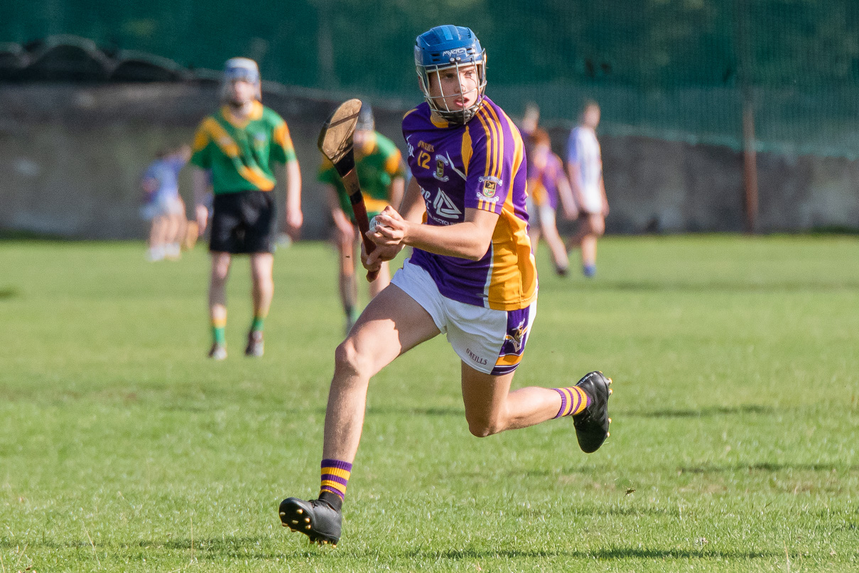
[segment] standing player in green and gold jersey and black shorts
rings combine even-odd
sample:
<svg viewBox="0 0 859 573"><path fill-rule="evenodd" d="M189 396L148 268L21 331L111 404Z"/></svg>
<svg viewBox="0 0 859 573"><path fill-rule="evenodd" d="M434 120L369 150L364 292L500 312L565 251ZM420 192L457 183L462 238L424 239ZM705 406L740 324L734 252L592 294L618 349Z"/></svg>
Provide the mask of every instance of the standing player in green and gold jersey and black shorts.
<svg viewBox="0 0 859 573"><path fill-rule="evenodd" d="M194 199L202 234L209 210L204 196L211 185L214 204L209 250L212 259L209 313L212 346L209 357L227 357L226 284L233 254L247 253L253 277L253 323L247 333L247 356L263 355L263 322L274 295L277 207L273 163L285 165L286 231L295 237L302 226L302 174L289 128L277 113L260 103L259 68L247 58L232 58L224 68L223 107L203 120L194 139Z"/></svg>

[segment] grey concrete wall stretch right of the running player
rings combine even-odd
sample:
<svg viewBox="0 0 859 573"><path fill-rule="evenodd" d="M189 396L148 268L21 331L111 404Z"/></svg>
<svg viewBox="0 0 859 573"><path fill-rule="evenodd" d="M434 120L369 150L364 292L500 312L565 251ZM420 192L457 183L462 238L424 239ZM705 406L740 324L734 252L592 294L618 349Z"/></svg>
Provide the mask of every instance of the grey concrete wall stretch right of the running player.
<svg viewBox="0 0 859 573"><path fill-rule="evenodd" d="M565 131L551 133L564 149ZM727 147L600 136L609 233L742 231L743 157ZM859 229L859 162L758 153L758 230Z"/></svg>

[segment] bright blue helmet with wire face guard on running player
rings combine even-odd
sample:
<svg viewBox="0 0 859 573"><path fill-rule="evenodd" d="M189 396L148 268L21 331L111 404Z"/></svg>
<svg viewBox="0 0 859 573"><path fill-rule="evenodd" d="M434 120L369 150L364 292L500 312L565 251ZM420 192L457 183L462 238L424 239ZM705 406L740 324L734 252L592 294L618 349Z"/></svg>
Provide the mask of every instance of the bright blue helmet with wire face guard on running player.
<svg viewBox="0 0 859 573"><path fill-rule="evenodd" d="M439 70L475 65L477 68L478 87L477 97L471 106L461 109L450 109L443 96L430 95L430 74ZM423 97L430 109L442 118L454 123L464 124L474 117L478 107L483 102L486 89L486 52L480 47L478 37L471 28L461 26L436 26L429 32L417 36L415 41L415 67L421 81ZM435 74L441 92L441 76ZM462 86L460 84L460 93ZM449 95L449 94L448 94Z"/></svg>

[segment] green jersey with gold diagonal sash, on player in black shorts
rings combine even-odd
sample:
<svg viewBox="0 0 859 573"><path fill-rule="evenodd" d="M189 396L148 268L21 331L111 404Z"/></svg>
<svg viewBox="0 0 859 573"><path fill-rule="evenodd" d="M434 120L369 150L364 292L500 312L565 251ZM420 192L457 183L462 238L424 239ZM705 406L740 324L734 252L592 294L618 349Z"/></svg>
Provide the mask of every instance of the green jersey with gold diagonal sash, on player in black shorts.
<svg viewBox="0 0 859 573"><path fill-rule="evenodd" d="M227 106L200 124L191 162L210 169L215 194L271 191L272 162L295 161L289 128L276 112L253 102L248 119L238 121Z"/></svg>

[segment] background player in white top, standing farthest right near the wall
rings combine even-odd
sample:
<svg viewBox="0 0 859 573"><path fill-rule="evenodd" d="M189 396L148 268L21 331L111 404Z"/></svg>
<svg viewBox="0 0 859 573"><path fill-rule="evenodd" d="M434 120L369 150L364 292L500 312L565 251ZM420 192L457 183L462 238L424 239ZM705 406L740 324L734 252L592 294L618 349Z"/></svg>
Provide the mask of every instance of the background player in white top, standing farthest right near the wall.
<svg viewBox="0 0 859 573"><path fill-rule="evenodd" d="M567 174L579 208L579 228L570 238L568 249L582 247L582 272L596 273L596 240L606 231L608 199L602 179L602 155L596 128L600 125L600 106L587 101L579 125L567 140Z"/></svg>

